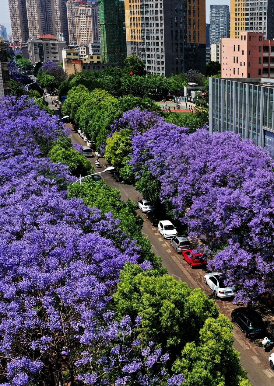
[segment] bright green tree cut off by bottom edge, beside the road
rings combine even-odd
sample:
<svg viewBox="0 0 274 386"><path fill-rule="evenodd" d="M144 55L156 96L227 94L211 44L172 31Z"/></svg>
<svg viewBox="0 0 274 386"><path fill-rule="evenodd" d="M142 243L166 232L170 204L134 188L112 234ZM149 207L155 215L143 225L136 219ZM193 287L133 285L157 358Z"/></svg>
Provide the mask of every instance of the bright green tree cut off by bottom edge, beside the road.
<svg viewBox="0 0 274 386"><path fill-rule="evenodd" d="M233 326L225 315L208 318L196 342L182 350L172 370L182 372L186 386L251 386L233 347Z"/></svg>

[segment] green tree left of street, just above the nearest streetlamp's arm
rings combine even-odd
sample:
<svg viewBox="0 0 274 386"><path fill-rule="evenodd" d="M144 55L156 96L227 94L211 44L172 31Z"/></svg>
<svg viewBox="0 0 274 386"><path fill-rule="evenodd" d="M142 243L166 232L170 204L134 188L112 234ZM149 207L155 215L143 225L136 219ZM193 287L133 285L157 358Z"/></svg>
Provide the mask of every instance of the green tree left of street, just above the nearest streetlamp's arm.
<svg viewBox="0 0 274 386"><path fill-rule="evenodd" d="M88 159L71 147L71 141L70 144L67 140L65 142L55 141L48 156L54 163L61 162L67 165L73 176L79 177L80 174L86 176L94 172L94 167Z"/></svg>

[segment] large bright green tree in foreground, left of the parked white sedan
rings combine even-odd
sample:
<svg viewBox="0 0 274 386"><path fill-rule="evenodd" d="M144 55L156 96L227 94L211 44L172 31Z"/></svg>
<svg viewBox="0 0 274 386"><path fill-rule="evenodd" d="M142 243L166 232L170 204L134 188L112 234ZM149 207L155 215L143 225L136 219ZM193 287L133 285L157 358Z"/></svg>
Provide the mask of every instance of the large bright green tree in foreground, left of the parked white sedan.
<svg viewBox="0 0 274 386"><path fill-rule="evenodd" d="M219 314L214 300L201 289L192 289L158 271L143 272L133 264L124 266L113 299L120 317L141 316L141 341L151 339L162 345L173 360L187 342L197 338L206 319Z"/></svg>

